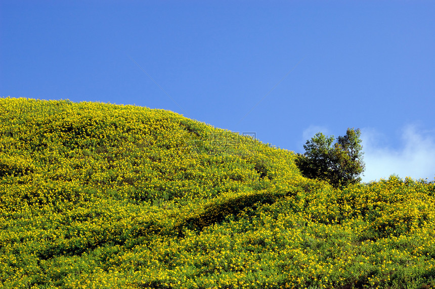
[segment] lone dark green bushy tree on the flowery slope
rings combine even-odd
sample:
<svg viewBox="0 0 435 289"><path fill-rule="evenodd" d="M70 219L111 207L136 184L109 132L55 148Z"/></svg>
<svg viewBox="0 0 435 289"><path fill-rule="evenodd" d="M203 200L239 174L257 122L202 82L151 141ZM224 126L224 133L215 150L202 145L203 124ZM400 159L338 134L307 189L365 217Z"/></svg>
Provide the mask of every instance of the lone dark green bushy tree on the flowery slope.
<svg viewBox="0 0 435 289"><path fill-rule="evenodd" d="M334 136L318 132L307 140L305 154L298 154L296 165L303 176L326 180L335 187L360 182L365 168L360 136L360 129L348 128L332 145Z"/></svg>

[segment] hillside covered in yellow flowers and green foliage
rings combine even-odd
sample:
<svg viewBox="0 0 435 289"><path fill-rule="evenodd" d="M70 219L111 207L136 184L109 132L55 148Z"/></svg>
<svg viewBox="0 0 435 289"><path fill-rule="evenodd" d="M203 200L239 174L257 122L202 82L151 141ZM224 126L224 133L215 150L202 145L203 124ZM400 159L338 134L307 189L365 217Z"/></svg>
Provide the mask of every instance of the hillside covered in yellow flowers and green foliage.
<svg viewBox="0 0 435 289"><path fill-rule="evenodd" d="M178 114L0 99L0 286L435 287L435 187L343 190Z"/></svg>

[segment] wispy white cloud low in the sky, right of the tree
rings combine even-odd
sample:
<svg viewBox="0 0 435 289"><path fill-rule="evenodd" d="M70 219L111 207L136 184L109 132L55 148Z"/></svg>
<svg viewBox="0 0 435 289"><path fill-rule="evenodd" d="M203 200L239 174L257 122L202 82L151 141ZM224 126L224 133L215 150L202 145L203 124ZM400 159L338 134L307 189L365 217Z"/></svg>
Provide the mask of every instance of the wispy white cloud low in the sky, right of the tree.
<svg viewBox="0 0 435 289"><path fill-rule="evenodd" d="M373 129L362 129L363 181L388 178L397 174L414 179L433 180L435 174L435 133L418 131L414 125L403 128L401 146L391 149L382 144L384 136Z"/></svg>

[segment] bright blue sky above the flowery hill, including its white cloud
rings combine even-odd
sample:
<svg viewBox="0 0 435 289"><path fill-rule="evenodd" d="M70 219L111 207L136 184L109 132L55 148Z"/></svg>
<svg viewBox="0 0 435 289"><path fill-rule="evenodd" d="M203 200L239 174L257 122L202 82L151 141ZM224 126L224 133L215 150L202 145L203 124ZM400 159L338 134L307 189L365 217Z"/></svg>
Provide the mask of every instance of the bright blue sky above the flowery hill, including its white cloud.
<svg viewBox="0 0 435 289"><path fill-rule="evenodd" d="M0 1L0 97L166 109L299 153L361 128L365 181L433 180L433 15L431 1Z"/></svg>

